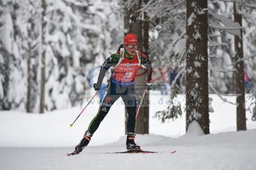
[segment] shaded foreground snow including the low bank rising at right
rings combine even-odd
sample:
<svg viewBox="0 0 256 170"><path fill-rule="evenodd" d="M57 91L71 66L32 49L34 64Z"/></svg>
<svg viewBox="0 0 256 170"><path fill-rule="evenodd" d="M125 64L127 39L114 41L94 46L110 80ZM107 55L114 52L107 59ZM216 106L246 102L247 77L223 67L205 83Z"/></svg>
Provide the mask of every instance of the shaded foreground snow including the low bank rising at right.
<svg viewBox="0 0 256 170"><path fill-rule="evenodd" d="M125 136L106 146L88 146L70 157L66 153L74 147L0 148L0 169L254 169L255 135L256 130L178 139L138 135L143 150L159 152L147 154L109 153L125 151ZM173 150L177 152L170 153Z"/></svg>

